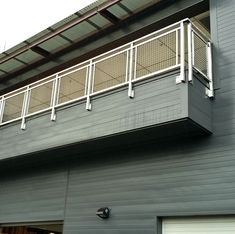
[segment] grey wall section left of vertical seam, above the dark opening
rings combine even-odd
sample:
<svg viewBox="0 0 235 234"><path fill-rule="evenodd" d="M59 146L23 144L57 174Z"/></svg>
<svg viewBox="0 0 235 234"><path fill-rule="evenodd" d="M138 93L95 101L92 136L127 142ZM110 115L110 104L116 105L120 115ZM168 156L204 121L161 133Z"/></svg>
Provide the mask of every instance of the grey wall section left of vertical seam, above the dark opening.
<svg viewBox="0 0 235 234"><path fill-rule="evenodd" d="M41 159L2 163L0 223L63 220L67 185L63 167Z"/></svg>

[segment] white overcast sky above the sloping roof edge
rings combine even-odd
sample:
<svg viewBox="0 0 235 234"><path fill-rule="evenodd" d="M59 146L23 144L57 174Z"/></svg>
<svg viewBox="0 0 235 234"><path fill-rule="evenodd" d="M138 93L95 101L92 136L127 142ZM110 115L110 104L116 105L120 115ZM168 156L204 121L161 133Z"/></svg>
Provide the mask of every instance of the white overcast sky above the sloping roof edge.
<svg viewBox="0 0 235 234"><path fill-rule="evenodd" d="M0 53L92 2L94 0L1 0Z"/></svg>

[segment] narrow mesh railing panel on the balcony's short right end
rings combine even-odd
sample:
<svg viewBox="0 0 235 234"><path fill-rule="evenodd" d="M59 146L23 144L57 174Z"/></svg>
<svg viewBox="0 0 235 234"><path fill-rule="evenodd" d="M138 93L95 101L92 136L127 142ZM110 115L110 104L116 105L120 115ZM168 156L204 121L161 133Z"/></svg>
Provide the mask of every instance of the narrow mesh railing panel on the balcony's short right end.
<svg viewBox="0 0 235 234"><path fill-rule="evenodd" d="M193 66L207 76L207 44L196 33L193 33Z"/></svg>

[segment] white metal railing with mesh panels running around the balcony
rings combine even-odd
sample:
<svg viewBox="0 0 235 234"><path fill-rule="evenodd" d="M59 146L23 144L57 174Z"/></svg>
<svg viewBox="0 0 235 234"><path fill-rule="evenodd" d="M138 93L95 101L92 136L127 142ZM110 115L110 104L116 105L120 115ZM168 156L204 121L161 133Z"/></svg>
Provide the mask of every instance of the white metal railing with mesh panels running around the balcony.
<svg viewBox="0 0 235 234"><path fill-rule="evenodd" d="M189 19L4 94L0 126L21 120L25 129L28 117L46 111L54 121L57 108L79 100L91 110L91 97L122 86L133 98L135 82L174 69L180 71L176 84L192 82L195 71L213 97L211 42Z"/></svg>

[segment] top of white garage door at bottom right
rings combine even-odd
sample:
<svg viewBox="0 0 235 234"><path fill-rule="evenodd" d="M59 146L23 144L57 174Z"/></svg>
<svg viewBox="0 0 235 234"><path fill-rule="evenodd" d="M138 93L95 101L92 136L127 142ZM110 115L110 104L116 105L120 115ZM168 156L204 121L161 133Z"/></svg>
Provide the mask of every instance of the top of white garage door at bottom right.
<svg viewBox="0 0 235 234"><path fill-rule="evenodd" d="M164 219L162 234L235 234L235 217Z"/></svg>

